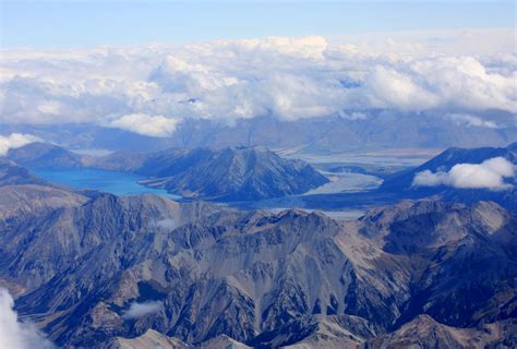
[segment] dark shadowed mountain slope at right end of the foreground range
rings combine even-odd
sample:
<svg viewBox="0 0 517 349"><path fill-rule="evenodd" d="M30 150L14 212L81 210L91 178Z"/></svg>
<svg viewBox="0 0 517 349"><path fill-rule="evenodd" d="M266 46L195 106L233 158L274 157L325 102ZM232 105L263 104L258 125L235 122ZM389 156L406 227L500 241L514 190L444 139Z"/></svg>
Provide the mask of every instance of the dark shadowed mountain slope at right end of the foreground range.
<svg viewBox="0 0 517 349"><path fill-rule="evenodd" d="M395 325L418 314L460 327L515 316L517 220L501 206L404 202L361 224L385 252L410 257L411 298Z"/></svg>

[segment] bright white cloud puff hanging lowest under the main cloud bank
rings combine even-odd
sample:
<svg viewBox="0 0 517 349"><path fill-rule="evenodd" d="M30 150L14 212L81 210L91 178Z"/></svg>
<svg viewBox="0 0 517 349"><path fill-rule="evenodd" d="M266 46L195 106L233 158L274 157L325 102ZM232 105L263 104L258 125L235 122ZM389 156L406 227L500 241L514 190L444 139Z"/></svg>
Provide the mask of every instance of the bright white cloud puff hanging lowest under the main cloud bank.
<svg viewBox="0 0 517 349"><path fill-rule="evenodd" d="M107 125L152 137L170 136L178 120L163 116L148 116L145 113L131 113L110 121Z"/></svg>

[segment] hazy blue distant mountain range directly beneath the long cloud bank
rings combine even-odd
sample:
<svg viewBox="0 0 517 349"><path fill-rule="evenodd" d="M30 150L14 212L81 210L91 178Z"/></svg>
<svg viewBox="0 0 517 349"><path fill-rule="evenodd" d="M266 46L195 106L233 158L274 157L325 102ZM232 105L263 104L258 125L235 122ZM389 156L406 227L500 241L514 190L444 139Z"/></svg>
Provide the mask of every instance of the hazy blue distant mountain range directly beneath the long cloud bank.
<svg viewBox="0 0 517 349"><path fill-rule="evenodd" d="M309 152L345 152L380 148L446 148L450 146L502 146L517 141L515 115L488 110L480 118L496 128L459 122L442 113L370 110L363 118L339 116L280 120L274 116L220 120L189 120L170 137L149 137L92 124L0 124L5 133L21 132L63 144L70 149L104 148L122 152L156 152L171 147L264 145L297 147ZM286 130L288 130L286 132ZM405 130L400 132L400 130Z"/></svg>

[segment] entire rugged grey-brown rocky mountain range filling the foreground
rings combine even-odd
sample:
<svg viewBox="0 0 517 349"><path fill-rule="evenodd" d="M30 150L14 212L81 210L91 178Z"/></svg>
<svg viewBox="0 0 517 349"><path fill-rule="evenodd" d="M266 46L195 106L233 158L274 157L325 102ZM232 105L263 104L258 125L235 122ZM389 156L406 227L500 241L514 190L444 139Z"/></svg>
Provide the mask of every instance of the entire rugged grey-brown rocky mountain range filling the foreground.
<svg viewBox="0 0 517 349"><path fill-rule="evenodd" d="M414 336L454 347L456 327L507 345L516 226L490 202L407 201L339 222L100 194L1 219L0 279L23 289L16 311L69 348L389 347Z"/></svg>

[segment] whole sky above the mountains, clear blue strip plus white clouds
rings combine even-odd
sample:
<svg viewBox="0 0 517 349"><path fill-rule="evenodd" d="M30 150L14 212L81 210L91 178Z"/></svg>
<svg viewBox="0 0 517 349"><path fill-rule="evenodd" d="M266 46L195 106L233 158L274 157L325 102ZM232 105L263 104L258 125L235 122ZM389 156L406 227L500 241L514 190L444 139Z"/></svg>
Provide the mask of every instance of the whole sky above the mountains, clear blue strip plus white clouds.
<svg viewBox="0 0 517 349"><path fill-rule="evenodd" d="M0 124L517 120L513 1L0 1Z"/></svg>

